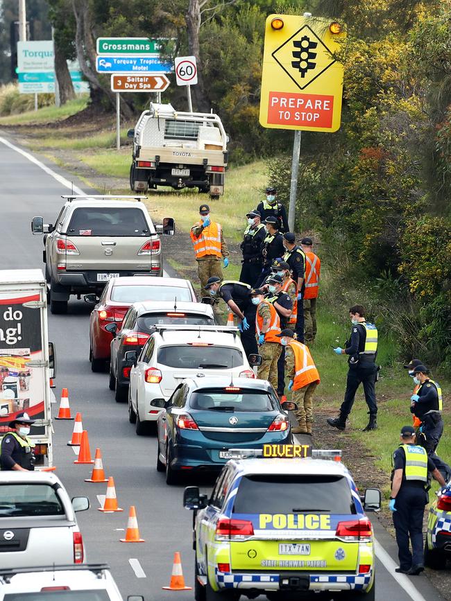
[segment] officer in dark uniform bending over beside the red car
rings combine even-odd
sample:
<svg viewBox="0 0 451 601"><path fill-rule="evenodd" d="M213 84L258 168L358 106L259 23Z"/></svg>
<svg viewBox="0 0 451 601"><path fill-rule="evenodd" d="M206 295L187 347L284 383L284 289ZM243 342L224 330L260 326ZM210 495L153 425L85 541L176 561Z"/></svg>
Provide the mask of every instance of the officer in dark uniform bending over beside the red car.
<svg viewBox="0 0 451 601"><path fill-rule="evenodd" d="M257 339L255 338L257 307L250 300L252 288L249 284L244 284L242 281L221 282L219 277L212 276L208 279L205 290L209 290L212 297L217 295L223 299L230 311L237 315L238 329L241 332L241 342L246 356L257 354Z"/></svg>

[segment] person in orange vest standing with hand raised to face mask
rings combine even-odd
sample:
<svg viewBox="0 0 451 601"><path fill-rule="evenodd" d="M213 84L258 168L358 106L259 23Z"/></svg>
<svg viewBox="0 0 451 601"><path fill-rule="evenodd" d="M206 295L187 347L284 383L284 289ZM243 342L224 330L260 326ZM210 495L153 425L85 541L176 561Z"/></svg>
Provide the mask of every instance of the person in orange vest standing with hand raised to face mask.
<svg viewBox="0 0 451 601"><path fill-rule="evenodd" d="M221 259L224 259L224 267L228 267L229 252L224 241L221 224L210 220L208 204L201 204L199 214L201 220L191 228L191 240L196 254L197 273L201 281L202 295L209 277L223 278Z"/></svg>

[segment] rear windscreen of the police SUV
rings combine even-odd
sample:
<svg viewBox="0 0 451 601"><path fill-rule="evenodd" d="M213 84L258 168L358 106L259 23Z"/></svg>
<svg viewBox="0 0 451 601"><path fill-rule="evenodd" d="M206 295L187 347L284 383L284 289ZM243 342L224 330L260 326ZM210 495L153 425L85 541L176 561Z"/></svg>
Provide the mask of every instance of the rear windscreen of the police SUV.
<svg viewBox="0 0 451 601"><path fill-rule="evenodd" d="M346 478L300 474L244 476L235 497L233 512L237 514L356 513Z"/></svg>

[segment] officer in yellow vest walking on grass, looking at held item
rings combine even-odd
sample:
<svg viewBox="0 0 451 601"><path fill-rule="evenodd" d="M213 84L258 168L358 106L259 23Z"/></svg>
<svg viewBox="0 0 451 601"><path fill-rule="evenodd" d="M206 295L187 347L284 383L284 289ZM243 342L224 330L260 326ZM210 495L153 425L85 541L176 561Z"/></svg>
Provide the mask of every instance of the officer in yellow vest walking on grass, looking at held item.
<svg viewBox="0 0 451 601"><path fill-rule="evenodd" d="M349 310L352 322L350 340L346 340L346 349L337 347L334 353L348 355L348 378L343 403L341 403L338 417L327 418L327 424L344 430L346 419L351 412L355 400L355 393L360 384L364 385L365 401L368 405L370 419L364 432L377 428L377 401L375 394L377 356L377 328L375 324L367 323L365 309L361 305L354 305Z"/></svg>

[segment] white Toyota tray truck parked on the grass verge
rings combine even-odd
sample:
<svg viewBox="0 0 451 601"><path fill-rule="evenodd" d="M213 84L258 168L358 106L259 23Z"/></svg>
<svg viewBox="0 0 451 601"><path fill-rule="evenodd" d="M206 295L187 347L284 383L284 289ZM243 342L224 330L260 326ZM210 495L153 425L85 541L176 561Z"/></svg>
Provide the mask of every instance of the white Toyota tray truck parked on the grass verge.
<svg viewBox="0 0 451 601"><path fill-rule="evenodd" d="M228 136L218 115L151 103L128 137L133 139L133 191L198 188L212 199L224 193Z"/></svg>

